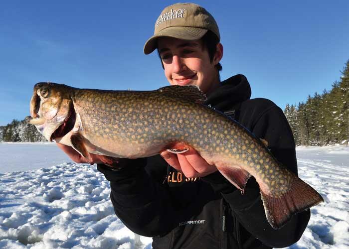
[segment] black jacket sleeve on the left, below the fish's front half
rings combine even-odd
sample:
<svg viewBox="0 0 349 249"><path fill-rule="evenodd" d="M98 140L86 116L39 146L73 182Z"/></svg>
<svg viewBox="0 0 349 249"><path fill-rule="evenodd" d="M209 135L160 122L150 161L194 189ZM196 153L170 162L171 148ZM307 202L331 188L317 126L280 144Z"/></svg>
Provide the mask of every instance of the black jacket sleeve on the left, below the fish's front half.
<svg viewBox="0 0 349 249"><path fill-rule="evenodd" d="M110 198L115 214L139 235L155 237L168 233L174 227L168 214L174 215L175 210L167 185L146 171L148 164L153 164L152 158L123 160L122 169L117 171L104 164L98 165L98 170L110 181ZM166 165L164 167L166 171Z"/></svg>

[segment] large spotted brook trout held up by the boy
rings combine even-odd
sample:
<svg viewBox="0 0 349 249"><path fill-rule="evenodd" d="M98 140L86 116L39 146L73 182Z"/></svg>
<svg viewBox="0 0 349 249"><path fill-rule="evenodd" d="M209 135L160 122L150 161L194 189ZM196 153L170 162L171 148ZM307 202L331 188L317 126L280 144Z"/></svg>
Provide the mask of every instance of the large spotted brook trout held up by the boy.
<svg viewBox="0 0 349 249"><path fill-rule="evenodd" d="M242 193L252 175L274 229L324 201L281 165L263 141L203 105L205 100L195 86L105 91L37 83L27 121L47 140L69 145L87 159L90 153L113 158L148 157L162 150L183 153L189 145Z"/></svg>

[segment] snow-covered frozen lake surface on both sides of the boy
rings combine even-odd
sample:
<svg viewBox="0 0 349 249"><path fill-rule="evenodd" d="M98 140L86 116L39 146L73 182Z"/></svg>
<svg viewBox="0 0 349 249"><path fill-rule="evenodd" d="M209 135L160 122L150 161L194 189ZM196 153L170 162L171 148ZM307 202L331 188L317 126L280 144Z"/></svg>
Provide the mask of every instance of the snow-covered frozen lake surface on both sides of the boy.
<svg viewBox="0 0 349 249"><path fill-rule="evenodd" d="M349 248L349 147L298 147L300 177L324 197L290 249ZM115 216L109 182L54 144L0 143L0 248L151 249Z"/></svg>

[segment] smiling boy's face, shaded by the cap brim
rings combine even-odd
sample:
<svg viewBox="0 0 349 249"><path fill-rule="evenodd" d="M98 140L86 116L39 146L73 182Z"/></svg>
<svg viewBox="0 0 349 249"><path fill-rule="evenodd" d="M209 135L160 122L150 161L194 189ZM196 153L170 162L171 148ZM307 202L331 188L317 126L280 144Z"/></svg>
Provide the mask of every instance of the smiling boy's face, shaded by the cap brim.
<svg viewBox="0 0 349 249"><path fill-rule="evenodd" d="M215 64L210 62L207 49L200 40L188 41L171 37L158 39L158 49L171 85L195 85L203 93L209 92L219 82ZM216 56L215 56L216 57Z"/></svg>

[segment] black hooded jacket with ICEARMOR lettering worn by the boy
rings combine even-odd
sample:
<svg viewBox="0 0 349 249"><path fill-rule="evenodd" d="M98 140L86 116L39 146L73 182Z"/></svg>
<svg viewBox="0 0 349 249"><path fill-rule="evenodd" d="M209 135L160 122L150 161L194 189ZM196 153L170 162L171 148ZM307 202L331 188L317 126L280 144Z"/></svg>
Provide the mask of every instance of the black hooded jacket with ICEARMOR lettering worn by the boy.
<svg viewBox="0 0 349 249"><path fill-rule="evenodd" d="M273 155L297 174L294 138L282 110L250 96L245 76L235 75L221 82L206 104L268 141ZM310 218L307 210L274 230L253 177L241 194L218 171L186 178L159 155L120 164L121 170L98 165L110 181L115 213L130 230L153 237L154 249L287 247L301 238Z"/></svg>

